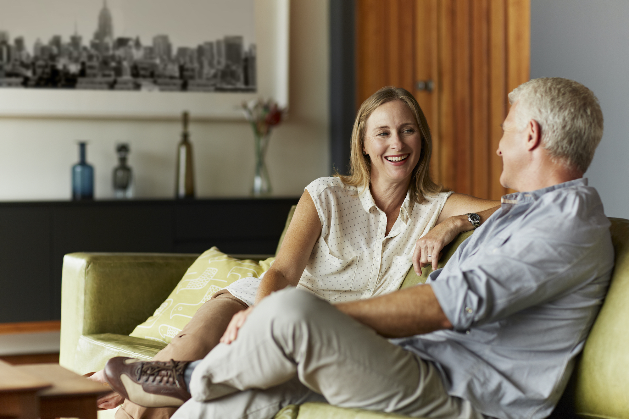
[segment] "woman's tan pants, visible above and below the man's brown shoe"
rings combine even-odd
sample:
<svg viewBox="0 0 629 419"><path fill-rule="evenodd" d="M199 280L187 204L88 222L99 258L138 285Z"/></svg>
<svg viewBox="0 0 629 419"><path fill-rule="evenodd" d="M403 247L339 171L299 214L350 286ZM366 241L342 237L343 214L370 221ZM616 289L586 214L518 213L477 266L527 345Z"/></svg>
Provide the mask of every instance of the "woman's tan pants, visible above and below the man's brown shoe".
<svg viewBox="0 0 629 419"><path fill-rule="evenodd" d="M181 333L172 338L170 344L160 350L153 360L203 359L218 344L231 317L246 308L247 304L228 291L219 291L199 308ZM145 408L125 400L116 411L116 419L168 419L175 410Z"/></svg>

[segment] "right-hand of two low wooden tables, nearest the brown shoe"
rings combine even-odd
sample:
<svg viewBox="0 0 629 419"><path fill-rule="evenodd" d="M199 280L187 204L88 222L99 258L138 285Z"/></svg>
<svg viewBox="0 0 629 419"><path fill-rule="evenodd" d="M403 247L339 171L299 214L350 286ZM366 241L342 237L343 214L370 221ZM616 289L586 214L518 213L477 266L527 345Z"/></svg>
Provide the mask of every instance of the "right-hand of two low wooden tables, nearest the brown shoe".
<svg viewBox="0 0 629 419"><path fill-rule="evenodd" d="M52 383L36 393L41 419L96 419L96 399L111 391L111 388L83 378L59 364L27 364L14 368Z"/></svg>

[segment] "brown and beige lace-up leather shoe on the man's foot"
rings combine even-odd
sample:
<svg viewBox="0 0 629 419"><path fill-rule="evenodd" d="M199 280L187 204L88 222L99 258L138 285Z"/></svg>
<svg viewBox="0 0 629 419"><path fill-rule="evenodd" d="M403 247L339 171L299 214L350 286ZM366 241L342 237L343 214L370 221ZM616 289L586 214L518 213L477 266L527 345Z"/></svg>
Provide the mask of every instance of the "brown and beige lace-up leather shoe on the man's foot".
<svg viewBox="0 0 629 419"><path fill-rule="evenodd" d="M184 381L189 363L115 357L107 361L104 371L109 386L137 405L179 407L191 397Z"/></svg>

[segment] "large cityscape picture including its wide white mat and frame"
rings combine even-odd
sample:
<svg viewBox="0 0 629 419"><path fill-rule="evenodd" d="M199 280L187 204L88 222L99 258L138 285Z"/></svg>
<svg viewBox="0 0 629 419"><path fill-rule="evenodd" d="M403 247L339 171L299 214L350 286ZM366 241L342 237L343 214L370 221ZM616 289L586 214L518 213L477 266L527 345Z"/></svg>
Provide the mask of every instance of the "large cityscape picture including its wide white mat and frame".
<svg viewBox="0 0 629 419"><path fill-rule="evenodd" d="M0 0L0 117L242 119L288 102L289 0Z"/></svg>

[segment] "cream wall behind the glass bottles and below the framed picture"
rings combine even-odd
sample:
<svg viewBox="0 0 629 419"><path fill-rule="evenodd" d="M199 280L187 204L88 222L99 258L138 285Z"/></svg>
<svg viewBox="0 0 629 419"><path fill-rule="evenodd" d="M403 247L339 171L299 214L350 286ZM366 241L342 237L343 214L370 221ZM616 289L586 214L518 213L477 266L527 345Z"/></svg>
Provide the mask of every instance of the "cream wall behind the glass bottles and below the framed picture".
<svg viewBox="0 0 629 419"><path fill-rule="evenodd" d="M274 195L301 195L326 176L328 150L328 1L291 1L290 117L268 152ZM0 94L2 92L0 91ZM0 117L0 200L70 198L77 140L89 140L96 198L110 198L114 146L131 144L138 198L174 195L174 121L26 120ZM191 124L197 196L246 196L253 178L253 137L246 123Z"/></svg>

